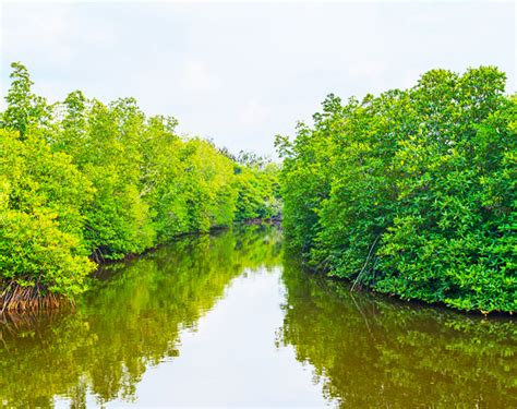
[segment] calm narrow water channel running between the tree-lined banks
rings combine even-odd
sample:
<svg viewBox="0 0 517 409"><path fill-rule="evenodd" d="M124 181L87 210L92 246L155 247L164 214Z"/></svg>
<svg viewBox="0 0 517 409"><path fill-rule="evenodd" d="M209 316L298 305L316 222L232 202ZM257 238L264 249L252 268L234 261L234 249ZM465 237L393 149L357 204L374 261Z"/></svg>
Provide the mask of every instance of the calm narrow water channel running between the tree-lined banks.
<svg viewBox="0 0 517 409"><path fill-rule="evenodd" d="M517 406L514 321L350 293L276 227L179 239L73 312L2 320L8 407Z"/></svg>

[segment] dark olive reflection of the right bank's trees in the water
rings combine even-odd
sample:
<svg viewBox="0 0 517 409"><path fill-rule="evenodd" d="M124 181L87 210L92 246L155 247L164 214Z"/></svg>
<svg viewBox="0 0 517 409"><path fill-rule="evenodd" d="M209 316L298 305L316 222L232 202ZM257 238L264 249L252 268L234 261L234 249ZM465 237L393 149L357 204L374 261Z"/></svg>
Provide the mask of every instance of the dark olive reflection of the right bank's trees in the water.
<svg viewBox="0 0 517 409"><path fill-rule="evenodd" d="M288 257L286 257L288 258ZM513 407L517 332L507 320L388 301L285 261L280 342L350 407Z"/></svg>

